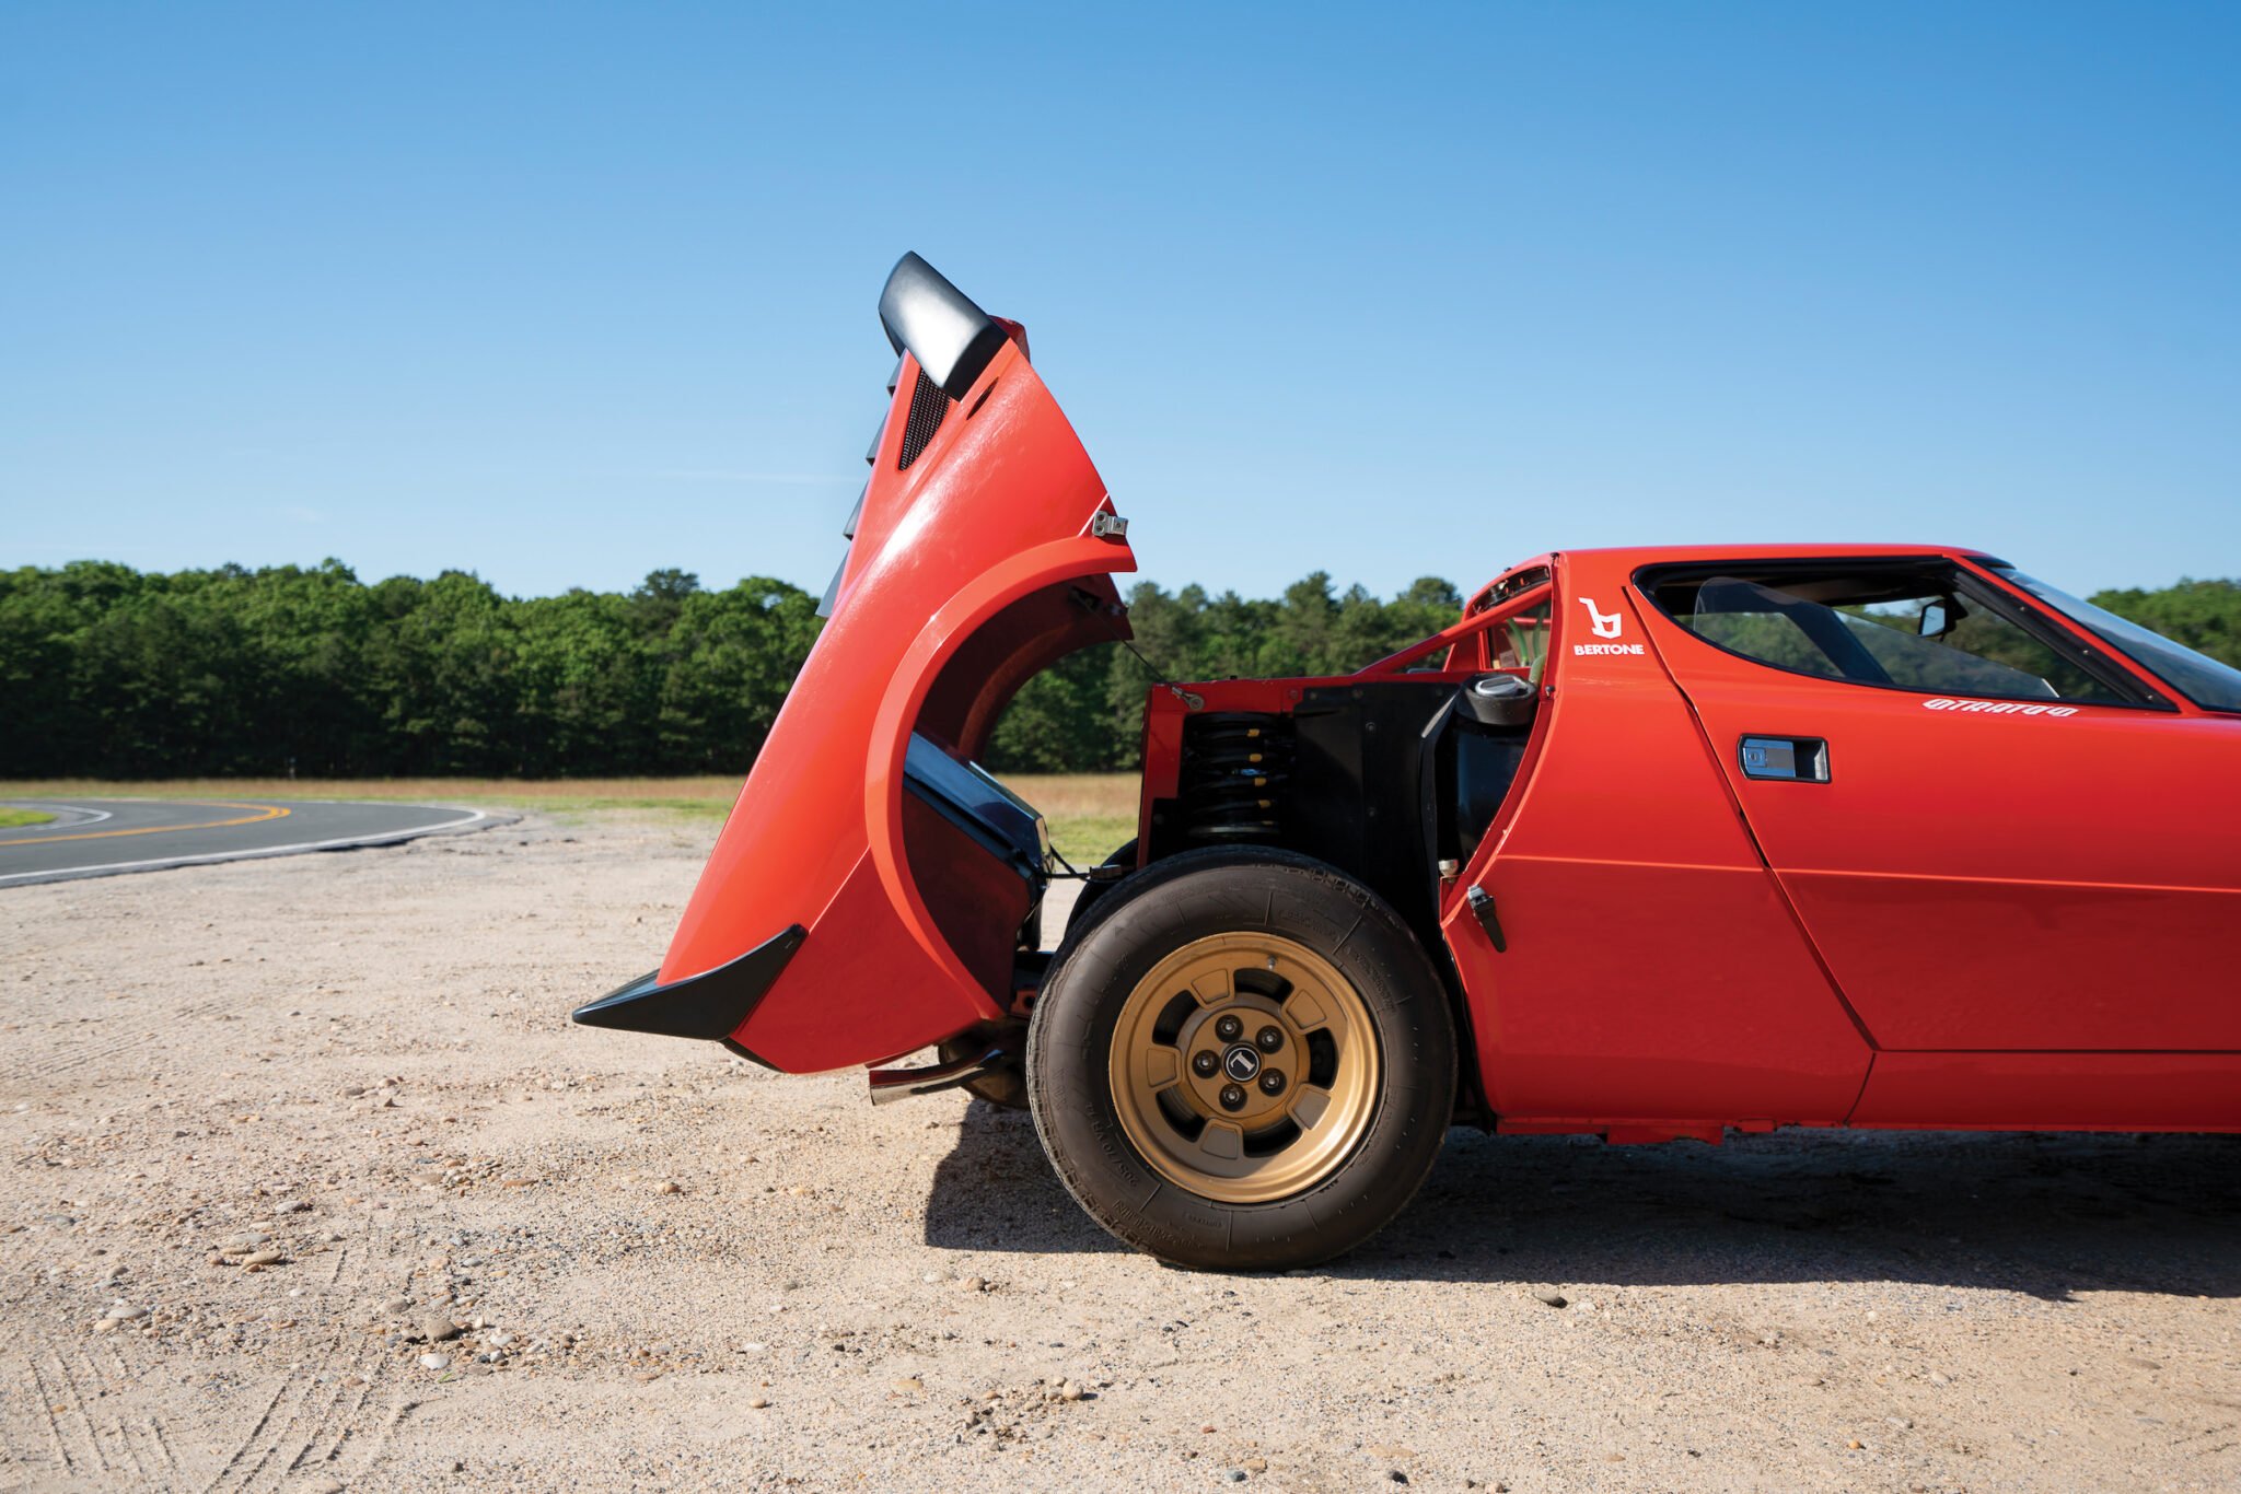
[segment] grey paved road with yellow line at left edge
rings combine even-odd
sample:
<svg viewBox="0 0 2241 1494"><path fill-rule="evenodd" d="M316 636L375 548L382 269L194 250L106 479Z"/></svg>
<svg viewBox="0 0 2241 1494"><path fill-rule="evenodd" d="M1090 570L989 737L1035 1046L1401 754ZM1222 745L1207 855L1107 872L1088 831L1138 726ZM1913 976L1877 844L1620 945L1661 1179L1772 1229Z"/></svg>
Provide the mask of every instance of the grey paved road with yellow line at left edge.
<svg viewBox="0 0 2241 1494"><path fill-rule="evenodd" d="M47 824L0 829L0 887L78 876L159 871L247 856L341 851L439 831L504 824L509 815L446 804L320 800L4 800L43 809Z"/></svg>

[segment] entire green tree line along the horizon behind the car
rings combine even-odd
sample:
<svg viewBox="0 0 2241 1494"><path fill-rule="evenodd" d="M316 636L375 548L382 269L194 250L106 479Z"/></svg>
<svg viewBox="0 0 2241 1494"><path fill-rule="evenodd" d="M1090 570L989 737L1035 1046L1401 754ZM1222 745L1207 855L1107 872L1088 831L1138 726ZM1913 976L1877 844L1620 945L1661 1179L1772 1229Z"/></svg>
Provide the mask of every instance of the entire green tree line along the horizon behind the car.
<svg viewBox="0 0 2241 1494"><path fill-rule="evenodd" d="M2241 582L2093 600L2241 665ZM1154 667L1340 674L1459 607L1432 576L1394 598L1322 571L1280 598L1138 582L1136 650L1091 647L1033 679L991 766L1134 766ZM511 598L466 571L365 585L338 560L20 567L0 571L0 777L744 773L818 625L813 596L762 576Z"/></svg>

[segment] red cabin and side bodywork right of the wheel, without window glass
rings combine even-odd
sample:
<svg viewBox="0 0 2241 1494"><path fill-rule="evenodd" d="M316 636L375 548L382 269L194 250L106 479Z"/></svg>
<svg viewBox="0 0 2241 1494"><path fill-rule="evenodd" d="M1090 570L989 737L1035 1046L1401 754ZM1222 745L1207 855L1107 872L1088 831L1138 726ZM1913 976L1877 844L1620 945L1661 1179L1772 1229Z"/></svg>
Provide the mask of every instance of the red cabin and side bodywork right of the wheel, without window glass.
<svg viewBox="0 0 2241 1494"><path fill-rule="evenodd" d="M1501 1127L2241 1129L2241 719L2145 672L2169 710L1925 710L1739 659L1634 585L1838 555L2001 585L1925 547L1535 562L1555 596L1540 739L1443 916ZM1609 645L1589 603L1620 611ZM1826 739L1833 779L1746 779L1746 732Z"/></svg>

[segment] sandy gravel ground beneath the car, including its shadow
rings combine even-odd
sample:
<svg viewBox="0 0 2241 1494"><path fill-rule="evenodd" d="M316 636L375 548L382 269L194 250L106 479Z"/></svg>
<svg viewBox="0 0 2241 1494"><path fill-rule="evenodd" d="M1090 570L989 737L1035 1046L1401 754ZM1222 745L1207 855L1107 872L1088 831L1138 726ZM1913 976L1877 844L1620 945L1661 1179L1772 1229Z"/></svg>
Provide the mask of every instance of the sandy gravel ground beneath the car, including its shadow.
<svg viewBox="0 0 2241 1494"><path fill-rule="evenodd" d="M580 1030L632 815L0 894L0 1485L2241 1487L2241 1145L1457 1131L1331 1270L1022 1115Z"/></svg>

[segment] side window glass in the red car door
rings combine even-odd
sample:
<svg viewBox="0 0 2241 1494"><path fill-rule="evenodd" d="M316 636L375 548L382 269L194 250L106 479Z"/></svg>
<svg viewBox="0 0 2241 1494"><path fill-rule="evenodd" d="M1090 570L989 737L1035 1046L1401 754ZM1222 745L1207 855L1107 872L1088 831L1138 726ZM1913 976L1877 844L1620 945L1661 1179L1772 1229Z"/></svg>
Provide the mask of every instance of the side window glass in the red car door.
<svg viewBox="0 0 2241 1494"><path fill-rule="evenodd" d="M2136 703L2003 616L1950 567L1770 567L1652 585L1719 647L1797 674L1923 694Z"/></svg>

